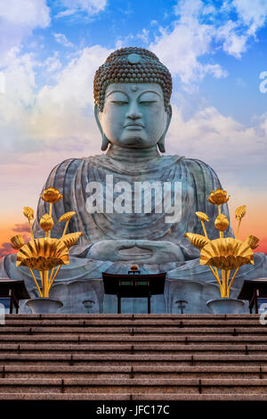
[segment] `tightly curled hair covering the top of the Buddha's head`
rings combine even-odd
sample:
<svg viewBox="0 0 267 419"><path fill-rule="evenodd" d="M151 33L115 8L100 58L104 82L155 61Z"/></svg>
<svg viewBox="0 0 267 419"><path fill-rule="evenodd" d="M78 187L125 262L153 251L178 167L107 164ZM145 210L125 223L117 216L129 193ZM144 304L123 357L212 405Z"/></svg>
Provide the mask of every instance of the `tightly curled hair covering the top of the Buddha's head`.
<svg viewBox="0 0 267 419"><path fill-rule="evenodd" d="M155 53L144 48L126 47L110 53L93 79L93 97L103 111L106 88L111 83L158 83L164 94L165 108L170 103L173 82L169 70Z"/></svg>

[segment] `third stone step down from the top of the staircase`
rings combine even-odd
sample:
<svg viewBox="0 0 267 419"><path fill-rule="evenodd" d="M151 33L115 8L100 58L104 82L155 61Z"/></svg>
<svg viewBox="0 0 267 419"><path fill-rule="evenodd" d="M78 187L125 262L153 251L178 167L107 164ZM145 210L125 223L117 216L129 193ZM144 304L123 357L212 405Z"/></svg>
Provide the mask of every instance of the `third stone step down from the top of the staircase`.
<svg viewBox="0 0 267 419"><path fill-rule="evenodd" d="M186 345L188 344L218 344L225 345L233 342L236 345L244 345L244 344L267 344L267 334L264 335L251 335L251 334L243 334L243 335L235 335L232 334L229 336L225 336L224 334L216 334L216 335L129 335L127 333L125 334L88 334L88 333L82 333L82 334L61 334L61 335L50 335L50 334L3 334L0 335L0 344L11 344L11 343L18 343L21 344L24 343L30 343L30 344L36 344L36 343L105 343L109 344L112 342L113 344L118 344L120 342L122 343L128 343L128 344L135 344L135 343L166 343L167 342L177 342L177 343L184 343Z"/></svg>

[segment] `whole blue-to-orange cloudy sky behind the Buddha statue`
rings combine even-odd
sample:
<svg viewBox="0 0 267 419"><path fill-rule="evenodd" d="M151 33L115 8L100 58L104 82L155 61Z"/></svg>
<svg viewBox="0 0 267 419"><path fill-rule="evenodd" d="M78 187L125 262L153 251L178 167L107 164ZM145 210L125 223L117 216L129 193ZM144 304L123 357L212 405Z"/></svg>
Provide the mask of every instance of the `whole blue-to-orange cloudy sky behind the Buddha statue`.
<svg viewBox="0 0 267 419"><path fill-rule="evenodd" d="M214 168L234 229L246 204L240 238L267 252L266 14L266 0L0 0L0 257L28 237L23 207L52 168L101 153L93 75L135 45L173 76L166 154Z"/></svg>

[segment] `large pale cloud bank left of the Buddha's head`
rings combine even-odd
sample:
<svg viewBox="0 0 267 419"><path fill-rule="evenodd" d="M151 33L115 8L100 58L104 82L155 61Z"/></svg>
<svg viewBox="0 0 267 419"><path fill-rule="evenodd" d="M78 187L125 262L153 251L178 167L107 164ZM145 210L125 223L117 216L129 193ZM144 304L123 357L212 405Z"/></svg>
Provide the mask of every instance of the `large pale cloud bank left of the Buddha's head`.
<svg viewBox="0 0 267 419"><path fill-rule="evenodd" d="M39 154L47 146L52 153L83 152L88 144L93 148L99 137L93 120L93 76L109 53L99 45L85 48L61 69L56 53L40 64L31 54L13 52L0 102L0 135L8 138L2 155L18 163L23 154ZM36 66L54 72L55 86L36 88Z"/></svg>

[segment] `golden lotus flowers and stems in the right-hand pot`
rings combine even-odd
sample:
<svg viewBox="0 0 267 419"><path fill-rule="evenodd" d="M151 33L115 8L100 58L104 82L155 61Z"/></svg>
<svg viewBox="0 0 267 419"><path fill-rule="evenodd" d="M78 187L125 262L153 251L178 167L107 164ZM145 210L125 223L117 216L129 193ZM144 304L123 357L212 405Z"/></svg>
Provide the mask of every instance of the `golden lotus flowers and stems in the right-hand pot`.
<svg viewBox="0 0 267 419"><path fill-rule="evenodd" d="M231 285L239 272L242 265L254 265L254 252L257 247L259 239L255 235L248 235L246 242L239 240L239 227L242 218L246 215L246 205L241 205L235 211L235 217L239 220L239 226L235 238L224 237L223 232L229 226L229 220L221 212L221 205L229 201L227 192L222 189L212 191L207 197L207 200L218 206L218 216L214 221L214 226L219 232L219 238L209 240L206 234L206 227L204 222L208 222L206 214L203 212L196 212L197 217L201 221L205 235L185 233L190 242L200 251L200 265L207 265L220 286L222 298L229 298ZM221 270L219 275L218 269ZM231 275L231 271L234 270Z"/></svg>

